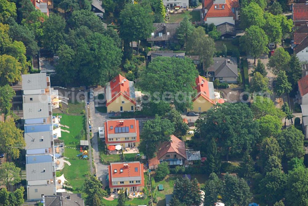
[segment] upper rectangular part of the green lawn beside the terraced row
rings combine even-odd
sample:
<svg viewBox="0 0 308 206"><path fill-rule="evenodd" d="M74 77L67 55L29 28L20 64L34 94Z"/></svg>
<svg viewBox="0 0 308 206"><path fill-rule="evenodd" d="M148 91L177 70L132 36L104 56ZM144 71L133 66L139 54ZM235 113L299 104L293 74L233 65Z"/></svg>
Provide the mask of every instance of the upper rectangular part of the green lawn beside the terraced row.
<svg viewBox="0 0 308 206"><path fill-rule="evenodd" d="M75 147L75 145L79 145L80 139L78 139L78 135L82 128L84 127L85 118L82 115L67 115L67 114L55 114L61 115L61 124L69 126L70 128L61 127L64 130L70 131L70 133L61 132L62 137L59 139L63 139L66 146ZM83 139L86 136L84 135Z"/></svg>

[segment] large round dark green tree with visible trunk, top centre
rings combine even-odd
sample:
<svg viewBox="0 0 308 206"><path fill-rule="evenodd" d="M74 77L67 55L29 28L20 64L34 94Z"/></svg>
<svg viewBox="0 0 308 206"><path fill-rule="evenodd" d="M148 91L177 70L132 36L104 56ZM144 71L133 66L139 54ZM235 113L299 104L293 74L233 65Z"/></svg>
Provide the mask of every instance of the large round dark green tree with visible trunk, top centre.
<svg viewBox="0 0 308 206"><path fill-rule="evenodd" d="M153 21L150 7L141 4L126 4L120 13L120 37L127 42L137 42L137 55L139 40L148 38L154 31Z"/></svg>

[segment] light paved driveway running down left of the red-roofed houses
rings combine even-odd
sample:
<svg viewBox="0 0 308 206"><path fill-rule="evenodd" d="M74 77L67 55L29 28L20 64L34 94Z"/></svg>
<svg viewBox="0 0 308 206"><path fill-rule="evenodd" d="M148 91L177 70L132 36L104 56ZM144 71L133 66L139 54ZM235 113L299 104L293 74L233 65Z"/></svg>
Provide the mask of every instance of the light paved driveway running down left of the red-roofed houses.
<svg viewBox="0 0 308 206"><path fill-rule="evenodd" d="M103 127L104 122L107 119L107 113L100 113L95 110L94 102L89 103L90 106L90 116L91 116L91 126L92 126L92 147L93 147L93 160L95 165L96 177L102 181L103 186L108 186L107 175L108 175L108 165L104 165L100 162L99 150L98 150L98 128Z"/></svg>

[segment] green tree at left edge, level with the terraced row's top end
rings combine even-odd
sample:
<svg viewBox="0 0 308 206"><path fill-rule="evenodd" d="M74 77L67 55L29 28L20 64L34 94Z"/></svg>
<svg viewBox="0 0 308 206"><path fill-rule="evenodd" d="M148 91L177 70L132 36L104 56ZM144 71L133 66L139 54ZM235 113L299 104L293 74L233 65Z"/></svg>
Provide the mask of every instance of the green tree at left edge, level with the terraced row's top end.
<svg viewBox="0 0 308 206"><path fill-rule="evenodd" d="M6 84L3 87L0 87L0 113L8 115L12 107L12 100L15 96L15 91Z"/></svg>

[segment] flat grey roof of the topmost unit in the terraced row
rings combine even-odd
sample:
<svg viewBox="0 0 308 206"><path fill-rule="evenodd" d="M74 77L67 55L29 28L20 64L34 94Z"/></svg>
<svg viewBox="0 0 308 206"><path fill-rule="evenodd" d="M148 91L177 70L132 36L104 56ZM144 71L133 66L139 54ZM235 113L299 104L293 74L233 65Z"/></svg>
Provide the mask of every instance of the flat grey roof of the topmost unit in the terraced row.
<svg viewBox="0 0 308 206"><path fill-rule="evenodd" d="M27 74L21 75L21 77L22 90L47 88L46 73Z"/></svg>

